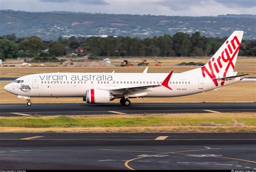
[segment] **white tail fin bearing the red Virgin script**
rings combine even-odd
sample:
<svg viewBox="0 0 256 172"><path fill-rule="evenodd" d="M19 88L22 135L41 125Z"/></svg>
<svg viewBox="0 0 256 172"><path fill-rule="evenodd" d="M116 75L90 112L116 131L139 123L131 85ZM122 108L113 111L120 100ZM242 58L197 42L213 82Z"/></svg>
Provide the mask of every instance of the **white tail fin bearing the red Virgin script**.
<svg viewBox="0 0 256 172"><path fill-rule="evenodd" d="M243 34L244 31L234 31L212 58L201 67L203 77L210 77L215 86L219 85L217 78L233 74ZM224 85L224 81L221 81L221 85Z"/></svg>

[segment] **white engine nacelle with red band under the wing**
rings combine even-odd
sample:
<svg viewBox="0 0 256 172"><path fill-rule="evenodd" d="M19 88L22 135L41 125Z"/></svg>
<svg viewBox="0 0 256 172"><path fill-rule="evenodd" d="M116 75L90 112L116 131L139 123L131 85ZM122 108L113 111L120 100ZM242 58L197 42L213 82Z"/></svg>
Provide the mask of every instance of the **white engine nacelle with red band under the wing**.
<svg viewBox="0 0 256 172"><path fill-rule="evenodd" d="M112 100L112 95L106 90L89 89L86 90L86 96L83 100L87 104L107 104Z"/></svg>

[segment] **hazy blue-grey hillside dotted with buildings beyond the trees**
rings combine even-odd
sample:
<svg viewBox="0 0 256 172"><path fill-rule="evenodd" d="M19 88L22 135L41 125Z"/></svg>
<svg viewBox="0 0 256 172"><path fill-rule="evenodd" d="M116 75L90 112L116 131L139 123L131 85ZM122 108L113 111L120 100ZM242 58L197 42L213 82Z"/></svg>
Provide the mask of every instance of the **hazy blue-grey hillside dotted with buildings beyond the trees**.
<svg viewBox="0 0 256 172"><path fill-rule="evenodd" d="M154 37L200 31L206 37L226 37L244 30L245 39L256 39L255 15L205 17L115 15L84 12L25 12L0 10L0 33L46 40L71 35Z"/></svg>

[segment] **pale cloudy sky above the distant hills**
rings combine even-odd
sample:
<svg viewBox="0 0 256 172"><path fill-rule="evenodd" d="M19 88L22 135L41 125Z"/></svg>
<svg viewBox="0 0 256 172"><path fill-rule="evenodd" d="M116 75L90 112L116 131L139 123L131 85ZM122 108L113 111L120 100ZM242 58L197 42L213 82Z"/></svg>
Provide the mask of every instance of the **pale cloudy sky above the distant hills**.
<svg viewBox="0 0 256 172"><path fill-rule="evenodd" d="M256 0L0 0L0 10L76 11L131 15L256 15Z"/></svg>

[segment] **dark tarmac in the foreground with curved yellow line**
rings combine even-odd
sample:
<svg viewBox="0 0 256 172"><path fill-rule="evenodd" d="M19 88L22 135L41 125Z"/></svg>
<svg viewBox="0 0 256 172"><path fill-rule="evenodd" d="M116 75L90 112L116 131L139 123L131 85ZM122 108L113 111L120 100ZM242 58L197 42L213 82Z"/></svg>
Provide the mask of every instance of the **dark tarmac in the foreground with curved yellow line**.
<svg viewBox="0 0 256 172"><path fill-rule="evenodd" d="M256 169L256 133L0 133L0 169Z"/></svg>

